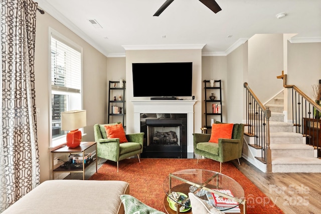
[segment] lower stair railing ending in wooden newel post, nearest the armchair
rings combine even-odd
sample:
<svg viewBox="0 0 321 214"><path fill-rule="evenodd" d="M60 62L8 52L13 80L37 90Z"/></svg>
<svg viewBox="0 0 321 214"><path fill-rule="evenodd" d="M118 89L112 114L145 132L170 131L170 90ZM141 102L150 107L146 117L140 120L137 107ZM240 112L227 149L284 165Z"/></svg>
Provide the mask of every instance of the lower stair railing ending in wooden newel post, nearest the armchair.
<svg viewBox="0 0 321 214"><path fill-rule="evenodd" d="M271 111L261 103L246 82L244 88L246 89L247 125L247 133L244 134L254 136L254 144L249 145L261 150L261 157L256 158L266 163L266 172L272 172L269 125Z"/></svg>

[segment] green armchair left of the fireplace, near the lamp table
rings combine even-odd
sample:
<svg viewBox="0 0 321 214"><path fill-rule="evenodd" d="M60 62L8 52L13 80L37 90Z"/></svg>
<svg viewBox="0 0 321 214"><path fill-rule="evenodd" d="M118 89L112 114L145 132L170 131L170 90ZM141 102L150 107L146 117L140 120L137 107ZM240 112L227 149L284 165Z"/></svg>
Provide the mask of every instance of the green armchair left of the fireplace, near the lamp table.
<svg viewBox="0 0 321 214"><path fill-rule="evenodd" d="M128 157L137 155L138 161L139 154L143 148L144 133L126 134L128 142L119 143L119 138L108 138L105 130L106 124L95 124L94 134L97 143L97 157L117 162Z"/></svg>

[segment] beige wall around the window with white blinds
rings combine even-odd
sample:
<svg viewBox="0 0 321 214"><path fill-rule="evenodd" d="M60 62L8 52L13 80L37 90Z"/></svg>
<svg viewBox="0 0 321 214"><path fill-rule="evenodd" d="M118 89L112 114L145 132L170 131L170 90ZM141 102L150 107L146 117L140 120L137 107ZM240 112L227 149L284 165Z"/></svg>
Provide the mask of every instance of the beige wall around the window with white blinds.
<svg viewBox="0 0 321 214"><path fill-rule="evenodd" d="M36 106L40 108L37 117L37 133L40 156L40 181L51 179L51 152L49 149L50 101L49 96L49 27L83 47L83 108L87 110L87 135L83 141L94 141L93 125L103 123L106 105L107 58L84 40L72 33L48 13L37 12L35 45L35 88Z"/></svg>

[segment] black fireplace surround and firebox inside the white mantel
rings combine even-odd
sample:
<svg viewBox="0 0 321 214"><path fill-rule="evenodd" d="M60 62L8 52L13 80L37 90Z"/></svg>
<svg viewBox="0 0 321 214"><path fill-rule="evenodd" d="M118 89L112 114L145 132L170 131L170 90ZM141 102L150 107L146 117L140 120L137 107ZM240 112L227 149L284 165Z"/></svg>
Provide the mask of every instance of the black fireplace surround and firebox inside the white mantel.
<svg viewBox="0 0 321 214"><path fill-rule="evenodd" d="M142 113L140 131L141 157L187 158L187 114Z"/></svg>

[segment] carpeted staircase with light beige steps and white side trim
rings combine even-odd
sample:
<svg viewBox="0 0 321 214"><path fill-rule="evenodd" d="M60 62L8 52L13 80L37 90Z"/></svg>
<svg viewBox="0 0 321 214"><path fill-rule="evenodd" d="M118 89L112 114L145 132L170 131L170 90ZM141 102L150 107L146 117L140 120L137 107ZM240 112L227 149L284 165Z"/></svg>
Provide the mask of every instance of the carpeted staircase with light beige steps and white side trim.
<svg viewBox="0 0 321 214"><path fill-rule="evenodd" d="M306 145L305 136L296 133L293 123L284 122L283 97L276 97L266 107L271 110L270 148L272 172L321 172L321 159L313 156L314 148ZM258 123L260 124L260 123ZM255 148L248 144L253 139L245 138L243 156L256 167L265 172L266 166L255 159Z"/></svg>

